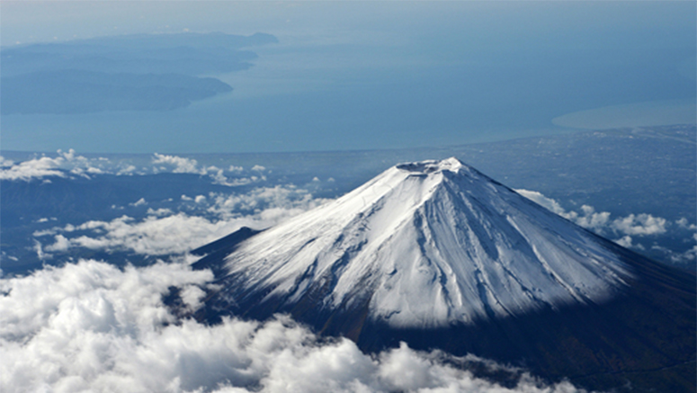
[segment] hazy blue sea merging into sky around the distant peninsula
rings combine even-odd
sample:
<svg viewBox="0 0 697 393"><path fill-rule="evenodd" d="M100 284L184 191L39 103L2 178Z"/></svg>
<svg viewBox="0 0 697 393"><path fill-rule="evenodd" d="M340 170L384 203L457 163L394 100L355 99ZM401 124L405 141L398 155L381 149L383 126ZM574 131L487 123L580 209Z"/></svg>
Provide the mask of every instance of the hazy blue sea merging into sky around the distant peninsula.
<svg viewBox="0 0 697 393"><path fill-rule="evenodd" d="M8 115L3 149L424 147L694 122L690 1L3 2L0 12L4 46L181 31L280 41L253 49L255 67L217 76L231 94L171 112Z"/></svg>

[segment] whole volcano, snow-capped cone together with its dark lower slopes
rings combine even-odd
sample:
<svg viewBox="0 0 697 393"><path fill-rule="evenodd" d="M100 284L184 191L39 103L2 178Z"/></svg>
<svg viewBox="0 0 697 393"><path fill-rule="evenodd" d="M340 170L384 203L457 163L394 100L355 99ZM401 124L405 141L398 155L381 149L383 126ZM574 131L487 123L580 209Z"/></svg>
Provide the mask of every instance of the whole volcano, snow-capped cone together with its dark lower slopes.
<svg viewBox="0 0 697 393"><path fill-rule="evenodd" d="M203 311L209 320L289 313L368 351L407 341L600 388L619 386L608 373L694 362L690 277L456 158L393 166L335 201L199 254L208 256L196 265L212 267L219 284ZM663 348L668 336L682 344Z"/></svg>

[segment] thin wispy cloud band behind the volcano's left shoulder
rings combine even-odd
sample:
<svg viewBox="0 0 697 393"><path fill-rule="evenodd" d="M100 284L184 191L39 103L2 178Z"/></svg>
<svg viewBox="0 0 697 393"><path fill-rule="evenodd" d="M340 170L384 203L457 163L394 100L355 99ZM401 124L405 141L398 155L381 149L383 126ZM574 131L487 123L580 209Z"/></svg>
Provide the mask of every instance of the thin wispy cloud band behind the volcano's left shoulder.
<svg viewBox="0 0 697 393"><path fill-rule="evenodd" d="M35 251L42 260L75 247L139 255L183 254L242 227L269 228L326 200L313 199L307 191L292 186L276 186L245 194L183 195L182 201L196 204L200 215L150 209L144 219L122 216L45 229L34 233ZM134 203L146 204L145 200ZM205 209L203 214L201 209Z"/></svg>

